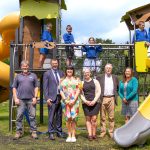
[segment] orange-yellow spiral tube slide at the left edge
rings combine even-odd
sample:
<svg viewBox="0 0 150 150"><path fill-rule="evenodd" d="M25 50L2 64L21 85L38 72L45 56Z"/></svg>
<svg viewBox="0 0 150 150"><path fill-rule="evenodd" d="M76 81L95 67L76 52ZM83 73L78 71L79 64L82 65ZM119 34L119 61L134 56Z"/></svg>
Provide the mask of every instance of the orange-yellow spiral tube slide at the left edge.
<svg viewBox="0 0 150 150"><path fill-rule="evenodd" d="M20 24L19 12L11 13L0 20L0 60L9 57L10 42L15 39L15 30ZM9 97L9 66L0 61L0 102Z"/></svg>

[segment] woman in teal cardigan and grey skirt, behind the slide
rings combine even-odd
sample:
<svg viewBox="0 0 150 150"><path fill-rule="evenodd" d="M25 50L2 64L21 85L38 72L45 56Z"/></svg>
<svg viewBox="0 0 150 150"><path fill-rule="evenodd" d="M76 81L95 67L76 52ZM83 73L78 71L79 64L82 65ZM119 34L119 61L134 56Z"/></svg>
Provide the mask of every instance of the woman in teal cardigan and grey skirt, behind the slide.
<svg viewBox="0 0 150 150"><path fill-rule="evenodd" d="M119 96L122 100L122 115L127 123L138 108L138 80L133 77L133 70L129 67L125 69L123 80L120 81Z"/></svg>

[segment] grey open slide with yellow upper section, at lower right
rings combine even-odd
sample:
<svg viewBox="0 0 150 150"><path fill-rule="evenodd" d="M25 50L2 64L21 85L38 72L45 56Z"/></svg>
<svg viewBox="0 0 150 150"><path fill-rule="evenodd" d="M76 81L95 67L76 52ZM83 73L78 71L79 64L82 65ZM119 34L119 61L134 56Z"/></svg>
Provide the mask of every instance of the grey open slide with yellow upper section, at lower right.
<svg viewBox="0 0 150 150"><path fill-rule="evenodd" d="M115 130L113 138L121 147L143 145L150 136L150 95L127 124Z"/></svg>

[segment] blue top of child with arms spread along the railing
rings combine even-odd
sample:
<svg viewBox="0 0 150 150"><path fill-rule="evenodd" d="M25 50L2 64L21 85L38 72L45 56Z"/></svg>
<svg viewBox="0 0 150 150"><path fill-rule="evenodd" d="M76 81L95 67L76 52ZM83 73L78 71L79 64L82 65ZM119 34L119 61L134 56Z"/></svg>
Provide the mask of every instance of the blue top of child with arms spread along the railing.
<svg viewBox="0 0 150 150"><path fill-rule="evenodd" d="M82 52L86 52L86 58L98 58L99 53L102 51L102 46L83 46Z"/></svg>

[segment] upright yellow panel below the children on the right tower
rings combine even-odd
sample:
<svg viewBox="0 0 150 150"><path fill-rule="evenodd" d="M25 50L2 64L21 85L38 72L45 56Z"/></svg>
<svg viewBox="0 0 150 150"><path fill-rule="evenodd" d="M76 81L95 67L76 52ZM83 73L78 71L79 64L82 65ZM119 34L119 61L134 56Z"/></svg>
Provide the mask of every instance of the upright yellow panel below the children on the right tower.
<svg viewBox="0 0 150 150"><path fill-rule="evenodd" d="M145 42L135 43L135 64L137 72L147 72L148 68L146 66L147 59L147 47Z"/></svg>

